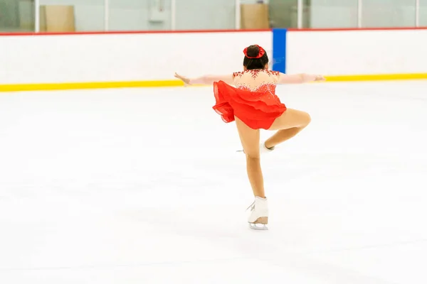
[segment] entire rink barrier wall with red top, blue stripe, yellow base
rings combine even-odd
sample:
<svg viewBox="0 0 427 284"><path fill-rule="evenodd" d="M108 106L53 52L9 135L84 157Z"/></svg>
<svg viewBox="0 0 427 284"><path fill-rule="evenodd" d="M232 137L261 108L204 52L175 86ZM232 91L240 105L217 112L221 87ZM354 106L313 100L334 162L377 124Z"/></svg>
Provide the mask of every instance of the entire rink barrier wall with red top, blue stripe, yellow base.
<svg viewBox="0 0 427 284"><path fill-rule="evenodd" d="M330 82L427 79L427 28L0 33L0 92L178 87L175 71L241 70L243 47L254 43L280 72Z"/></svg>

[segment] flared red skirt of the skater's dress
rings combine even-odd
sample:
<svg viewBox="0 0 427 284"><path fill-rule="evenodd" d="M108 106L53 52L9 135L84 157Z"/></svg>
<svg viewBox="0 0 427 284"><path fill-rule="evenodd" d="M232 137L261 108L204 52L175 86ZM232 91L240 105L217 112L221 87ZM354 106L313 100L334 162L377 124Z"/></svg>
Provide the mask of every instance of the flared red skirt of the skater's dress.
<svg viewBox="0 0 427 284"><path fill-rule="evenodd" d="M269 129L275 119L286 111L285 104L270 92L237 89L226 82L214 82L216 104L213 109L224 122L238 117L251 129Z"/></svg>

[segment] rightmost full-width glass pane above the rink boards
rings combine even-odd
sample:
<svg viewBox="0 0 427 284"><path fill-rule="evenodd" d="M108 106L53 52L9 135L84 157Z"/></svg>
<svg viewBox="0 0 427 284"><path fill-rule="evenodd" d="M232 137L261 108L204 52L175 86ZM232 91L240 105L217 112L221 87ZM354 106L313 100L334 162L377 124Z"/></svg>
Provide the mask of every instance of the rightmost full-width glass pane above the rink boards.
<svg viewBox="0 0 427 284"><path fill-rule="evenodd" d="M363 28L400 28L415 26L414 0L364 0Z"/></svg>

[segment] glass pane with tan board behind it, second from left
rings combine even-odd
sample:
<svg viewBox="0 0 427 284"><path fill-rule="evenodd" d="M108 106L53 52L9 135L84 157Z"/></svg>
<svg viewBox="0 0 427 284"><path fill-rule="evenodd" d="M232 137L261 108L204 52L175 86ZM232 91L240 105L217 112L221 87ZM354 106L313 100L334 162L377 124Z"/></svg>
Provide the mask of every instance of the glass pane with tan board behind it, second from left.
<svg viewBox="0 0 427 284"><path fill-rule="evenodd" d="M40 31L105 31L104 0L40 0Z"/></svg>

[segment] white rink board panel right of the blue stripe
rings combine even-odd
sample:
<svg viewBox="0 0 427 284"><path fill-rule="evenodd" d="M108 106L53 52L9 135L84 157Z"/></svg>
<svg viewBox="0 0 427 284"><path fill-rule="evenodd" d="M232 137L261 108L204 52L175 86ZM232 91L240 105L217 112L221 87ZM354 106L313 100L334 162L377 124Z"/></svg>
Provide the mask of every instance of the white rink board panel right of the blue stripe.
<svg viewBox="0 0 427 284"><path fill-rule="evenodd" d="M287 42L288 73L427 72L427 30L289 31Z"/></svg>

